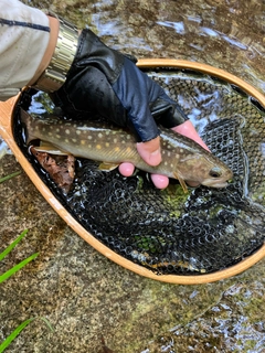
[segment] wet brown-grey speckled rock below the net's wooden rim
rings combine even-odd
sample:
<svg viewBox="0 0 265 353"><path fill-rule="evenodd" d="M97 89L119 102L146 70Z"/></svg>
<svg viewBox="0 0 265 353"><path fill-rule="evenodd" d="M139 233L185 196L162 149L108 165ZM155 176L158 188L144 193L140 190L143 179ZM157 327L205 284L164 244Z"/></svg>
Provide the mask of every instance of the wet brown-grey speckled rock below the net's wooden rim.
<svg viewBox="0 0 265 353"><path fill-rule="evenodd" d="M6 156L0 175L18 169ZM40 255L1 285L0 340L32 317L44 317L54 328L33 321L7 352L99 352L102 335L115 352L263 352L264 260L203 286L149 280L91 248L23 171L1 190L1 249L29 228L1 272Z"/></svg>

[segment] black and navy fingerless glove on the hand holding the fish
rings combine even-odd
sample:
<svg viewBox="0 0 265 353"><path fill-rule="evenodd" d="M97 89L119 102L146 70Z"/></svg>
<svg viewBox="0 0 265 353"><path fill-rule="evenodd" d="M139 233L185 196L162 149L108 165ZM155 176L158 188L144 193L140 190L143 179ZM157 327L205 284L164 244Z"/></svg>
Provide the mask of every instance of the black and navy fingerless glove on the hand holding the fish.
<svg viewBox="0 0 265 353"><path fill-rule="evenodd" d="M106 46L89 30L81 33L67 79L53 100L72 117L99 114L130 127L144 142L159 136L156 121L171 128L187 120L177 103L131 58Z"/></svg>

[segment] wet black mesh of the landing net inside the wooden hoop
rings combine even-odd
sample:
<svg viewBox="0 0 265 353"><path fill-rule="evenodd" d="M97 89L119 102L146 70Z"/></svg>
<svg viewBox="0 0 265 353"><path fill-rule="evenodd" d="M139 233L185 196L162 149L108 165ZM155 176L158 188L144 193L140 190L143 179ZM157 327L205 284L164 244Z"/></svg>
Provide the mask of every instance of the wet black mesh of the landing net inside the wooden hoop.
<svg viewBox="0 0 265 353"><path fill-rule="evenodd" d="M145 172L124 178L117 170L98 170L98 162L77 159L74 185L65 195L28 152L19 113L17 142L66 210L115 253L158 275L199 276L226 268L264 244L264 108L237 87L210 76L170 68L148 74L233 170L226 189L200 186L184 194L171 180L159 191ZM24 93L19 106L45 110L44 103L32 103L32 95Z"/></svg>

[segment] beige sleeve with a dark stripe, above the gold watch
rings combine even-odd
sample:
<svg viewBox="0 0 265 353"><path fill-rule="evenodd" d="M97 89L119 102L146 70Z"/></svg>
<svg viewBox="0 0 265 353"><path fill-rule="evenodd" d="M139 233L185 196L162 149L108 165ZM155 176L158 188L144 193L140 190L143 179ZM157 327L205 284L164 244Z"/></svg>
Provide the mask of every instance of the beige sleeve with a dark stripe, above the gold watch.
<svg viewBox="0 0 265 353"><path fill-rule="evenodd" d="M50 39L49 18L18 0L0 0L0 100L34 76Z"/></svg>

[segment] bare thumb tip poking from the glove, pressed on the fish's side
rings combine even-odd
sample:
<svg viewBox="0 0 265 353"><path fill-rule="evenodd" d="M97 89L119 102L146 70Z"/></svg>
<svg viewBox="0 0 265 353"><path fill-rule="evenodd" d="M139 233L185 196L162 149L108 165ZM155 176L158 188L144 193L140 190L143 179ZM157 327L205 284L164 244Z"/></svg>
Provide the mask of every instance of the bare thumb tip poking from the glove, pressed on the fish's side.
<svg viewBox="0 0 265 353"><path fill-rule="evenodd" d="M147 164L158 165L161 162L162 157L160 151L159 136L147 142L138 142L136 147L138 153Z"/></svg>

